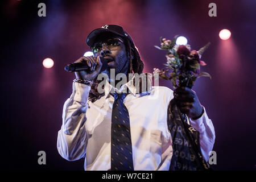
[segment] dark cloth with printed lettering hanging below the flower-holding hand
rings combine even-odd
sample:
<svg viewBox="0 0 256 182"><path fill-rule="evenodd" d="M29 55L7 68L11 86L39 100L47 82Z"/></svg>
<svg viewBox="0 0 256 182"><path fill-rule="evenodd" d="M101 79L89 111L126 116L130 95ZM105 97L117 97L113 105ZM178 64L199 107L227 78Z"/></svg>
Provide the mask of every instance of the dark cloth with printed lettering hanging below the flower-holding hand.
<svg viewBox="0 0 256 182"><path fill-rule="evenodd" d="M173 155L169 171L206 171L211 170L204 160L200 147L200 134L188 125L187 118L176 104L170 101L167 123L172 136Z"/></svg>

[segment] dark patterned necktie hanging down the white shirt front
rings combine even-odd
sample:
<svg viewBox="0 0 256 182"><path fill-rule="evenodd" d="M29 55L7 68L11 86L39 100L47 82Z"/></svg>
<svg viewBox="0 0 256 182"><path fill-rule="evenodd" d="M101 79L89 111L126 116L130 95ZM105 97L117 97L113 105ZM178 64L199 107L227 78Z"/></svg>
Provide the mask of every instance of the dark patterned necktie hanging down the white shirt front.
<svg viewBox="0 0 256 182"><path fill-rule="evenodd" d="M111 170L133 171L130 119L123 99L127 93L114 93L111 125Z"/></svg>

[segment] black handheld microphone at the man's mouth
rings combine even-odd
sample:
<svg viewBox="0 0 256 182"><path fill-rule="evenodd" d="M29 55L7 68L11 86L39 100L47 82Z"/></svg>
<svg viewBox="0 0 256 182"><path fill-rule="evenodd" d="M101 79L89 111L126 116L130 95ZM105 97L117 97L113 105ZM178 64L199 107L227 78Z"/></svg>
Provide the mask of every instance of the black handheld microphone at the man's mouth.
<svg viewBox="0 0 256 182"><path fill-rule="evenodd" d="M102 67L101 72L108 68L108 60L104 57L100 57ZM87 71L90 69L86 63L71 63L65 66L65 71L67 72L79 72L79 71Z"/></svg>

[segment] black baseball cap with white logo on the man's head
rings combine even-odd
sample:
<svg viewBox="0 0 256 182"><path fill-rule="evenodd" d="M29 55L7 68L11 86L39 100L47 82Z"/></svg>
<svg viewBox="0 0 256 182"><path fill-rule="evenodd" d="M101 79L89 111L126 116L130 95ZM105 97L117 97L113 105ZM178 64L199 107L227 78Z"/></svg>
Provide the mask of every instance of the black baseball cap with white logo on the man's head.
<svg viewBox="0 0 256 182"><path fill-rule="evenodd" d="M131 39L131 36L127 34L125 30L123 30L123 27L116 25L116 24L106 24L105 26L102 26L101 28L97 28L90 32L90 34L87 36L86 44L90 47L93 46L95 43L95 40L98 35L104 33L104 32L112 32L115 35L121 36L122 38L127 38L130 40L131 44L133 43L133 39Z"/></svg>

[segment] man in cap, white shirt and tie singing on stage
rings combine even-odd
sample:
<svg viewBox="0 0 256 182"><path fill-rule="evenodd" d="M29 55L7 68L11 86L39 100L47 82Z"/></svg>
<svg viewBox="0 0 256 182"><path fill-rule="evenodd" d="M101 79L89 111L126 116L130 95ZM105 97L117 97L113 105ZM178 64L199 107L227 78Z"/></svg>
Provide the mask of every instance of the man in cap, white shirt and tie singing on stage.
<svg viewBox="0 0 256 182"><path fill-rule="evenodd" d="M85 170L168 170L173 148L167 109L174 92L152 85L143 90L134 79L128 79L129 73L140 75L144 64L133 39L121 26L97 28L86 43L94 55L75 61L90 69L75 72L73 92L63 107L59 154L67 160L85 158ZM102 60L108 61L104 71ZM102 90L97 78L100 73L106 75ZM123 73L127 79L121 81L112 73ZM193 90L178 88L175 98L191 126L199 131L201 154L207 161L215 139L212 121Z"/></svg>

